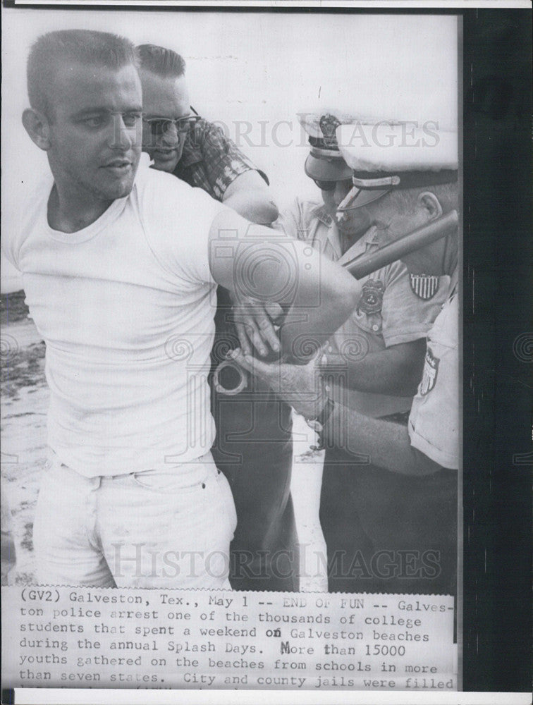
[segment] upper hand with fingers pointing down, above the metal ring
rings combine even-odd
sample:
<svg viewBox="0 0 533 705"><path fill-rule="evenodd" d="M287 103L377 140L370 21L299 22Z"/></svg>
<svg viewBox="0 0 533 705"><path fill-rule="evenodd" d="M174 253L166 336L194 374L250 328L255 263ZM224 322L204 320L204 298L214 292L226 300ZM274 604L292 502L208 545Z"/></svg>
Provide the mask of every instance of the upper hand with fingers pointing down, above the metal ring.
<svg viewBox="0 0 533 705"><path fill-rule="evenodd" d="M267 355L269 349L275 353L281 350L276 327L276 319L281 314L283 309L274 302L264 303L252 298L240 298L238 301L233 299L232 318L240 345L247 355L252 355L254 348L259 355Z"/></svg>

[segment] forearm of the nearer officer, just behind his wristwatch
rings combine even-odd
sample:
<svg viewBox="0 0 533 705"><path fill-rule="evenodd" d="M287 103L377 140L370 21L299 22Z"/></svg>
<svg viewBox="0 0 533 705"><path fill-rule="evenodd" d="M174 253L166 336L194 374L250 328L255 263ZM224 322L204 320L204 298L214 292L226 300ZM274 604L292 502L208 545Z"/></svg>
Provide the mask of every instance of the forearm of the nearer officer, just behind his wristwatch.
<svg viewBox="0 0 533 705"><path fill-rule="evenodd" d="M372 419L342 404L335 405L323 433L331 445L357 456L367 455L372 465L390 472L422 476L441 467L412 448L407 427Z"/></svg>

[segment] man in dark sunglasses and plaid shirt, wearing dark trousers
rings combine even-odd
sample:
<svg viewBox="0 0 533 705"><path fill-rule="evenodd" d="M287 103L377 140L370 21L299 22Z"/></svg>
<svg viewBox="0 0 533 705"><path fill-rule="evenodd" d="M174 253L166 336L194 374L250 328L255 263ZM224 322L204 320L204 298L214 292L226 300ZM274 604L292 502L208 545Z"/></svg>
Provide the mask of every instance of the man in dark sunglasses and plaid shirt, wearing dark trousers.
<svg viewBox="0 0 533 705"><path fill-rule="evenodd" d="M192 114L185 61L171 49L143 44L141 62L143 149L154 168L172 173L254 223L278 215L267 176L223 130ZM178 217L178 214L176 214ZM227 290L217 290L213 367L219 351L240 344L264 355L278 345L267 308L235 309ZM278 312L281 309L278 309ZM272 307L268 307L272 312ZM235 321L235 324L233 323ZM235 589L298 589L299 552L292 498L290 407L262 381L253 391L224 396L212 386L216 442L212 453L226 475L238 515L231 546L230 580Z"/></svg>

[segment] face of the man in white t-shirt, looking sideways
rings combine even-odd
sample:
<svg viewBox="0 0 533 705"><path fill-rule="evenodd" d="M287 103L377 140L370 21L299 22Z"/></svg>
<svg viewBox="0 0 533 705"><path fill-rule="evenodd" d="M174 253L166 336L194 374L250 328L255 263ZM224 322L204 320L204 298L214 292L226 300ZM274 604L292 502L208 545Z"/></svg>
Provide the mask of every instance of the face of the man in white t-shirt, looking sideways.
<svg viewBox="0 0 533 705"><path fill-rule="evenodd" d="M49 103L48 157L60 197L92 204L127 196L140 159L142 99L135 66L59 63Z"/></svg>

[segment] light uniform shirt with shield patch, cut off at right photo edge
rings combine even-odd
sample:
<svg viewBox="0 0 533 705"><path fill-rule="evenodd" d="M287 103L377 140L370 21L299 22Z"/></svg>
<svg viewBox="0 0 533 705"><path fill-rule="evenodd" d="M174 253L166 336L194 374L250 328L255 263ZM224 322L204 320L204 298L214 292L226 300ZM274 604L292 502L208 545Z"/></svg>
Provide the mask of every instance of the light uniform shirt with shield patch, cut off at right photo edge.
<svg viewBox="0 0 533 705"><path fill-rule="evenodd" d="M411 444L442 467L459 467L459 307L443 305L427 338L424 373L409 417Z"/></svg>

